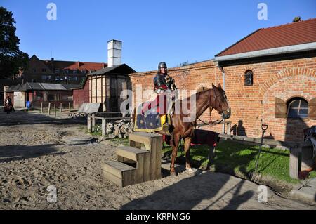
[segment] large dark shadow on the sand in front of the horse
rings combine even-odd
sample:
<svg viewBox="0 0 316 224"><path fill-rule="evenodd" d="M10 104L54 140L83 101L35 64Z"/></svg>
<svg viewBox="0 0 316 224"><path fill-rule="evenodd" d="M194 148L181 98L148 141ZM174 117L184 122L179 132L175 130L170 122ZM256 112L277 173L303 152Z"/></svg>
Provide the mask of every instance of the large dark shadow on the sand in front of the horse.
<svg viewBox="0 0 316 224"><path fill-rule="evenodd" d="M218 176L216 173L204 172L180 180L178 183L164 187L162 190L158 190L142 199L135 199L121 206L121 209L209 209L216 202L223 200L223 197L229 192L233 192L233 197L223 209L238 209L241 204L254 196L254 191L252 190L240 195L240 190L245 180L240 180L237 185L220 195L216 202L212 204L203 202L218 195L218 192L223 189L223 186L229 179L229 175Z"/></svg>

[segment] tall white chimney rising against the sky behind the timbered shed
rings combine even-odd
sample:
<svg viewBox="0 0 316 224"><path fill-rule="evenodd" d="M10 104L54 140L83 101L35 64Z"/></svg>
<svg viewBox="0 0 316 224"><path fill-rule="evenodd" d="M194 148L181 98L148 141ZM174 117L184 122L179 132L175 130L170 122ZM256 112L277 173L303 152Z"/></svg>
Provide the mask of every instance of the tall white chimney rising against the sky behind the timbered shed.
<svg viewBox="0 0 316 224"><path fill-rule="evenodd" d="M107 41L107 67L121 65L121 41Z"/></svg>

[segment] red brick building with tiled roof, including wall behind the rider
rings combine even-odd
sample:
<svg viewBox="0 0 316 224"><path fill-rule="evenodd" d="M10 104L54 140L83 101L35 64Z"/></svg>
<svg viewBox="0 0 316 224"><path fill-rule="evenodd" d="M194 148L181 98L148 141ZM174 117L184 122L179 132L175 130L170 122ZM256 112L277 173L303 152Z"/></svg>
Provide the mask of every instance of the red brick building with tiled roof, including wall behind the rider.
<svg viewBox="0 0 316 224"><path fill-rule="evenodd" d="M224 86L232 107L230 134L261 137L261 124L268 124L266 138L303 140L303 129L316 125L316 18L258 29L213 60L168 72L180 89ZM133 93L136 84L152 89L156 74L130 74ZM208 116L206 110L202 119Z"/></svg>

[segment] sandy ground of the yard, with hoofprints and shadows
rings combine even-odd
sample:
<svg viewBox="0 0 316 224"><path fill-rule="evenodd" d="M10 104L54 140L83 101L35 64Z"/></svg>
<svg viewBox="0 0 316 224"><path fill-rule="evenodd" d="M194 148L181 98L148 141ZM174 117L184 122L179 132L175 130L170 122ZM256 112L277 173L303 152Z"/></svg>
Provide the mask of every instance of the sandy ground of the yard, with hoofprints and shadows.
<svg viewBox="0 0 316 224"><path fill-rule="evenodd" d="M115 145L67 145L66 137L88 136L85 121L75 123L0 114L0 209L316 209L271 190L268 202L260 203L258 185L223 173L183 171L117 187L100 169L102 159L116 159ZM57 189L56 203L47 202L49 185Z"/></svg>

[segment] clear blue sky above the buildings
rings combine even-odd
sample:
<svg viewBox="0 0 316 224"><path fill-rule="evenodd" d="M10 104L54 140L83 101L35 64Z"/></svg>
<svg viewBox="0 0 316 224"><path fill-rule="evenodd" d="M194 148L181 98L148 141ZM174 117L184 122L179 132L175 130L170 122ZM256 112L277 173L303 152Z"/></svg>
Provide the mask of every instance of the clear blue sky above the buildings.
<svg viewBox="0 0 316 224"><path fill-rule="evenodd" d="M48 3L57 20L48 20ZM268 20L258 20L259 3ZM315 0L0 0L13 12L20 49L40 59L107 62L107 41L123 42L122 62L138 72L209 60L261 27L316 18Z"/></svg>

